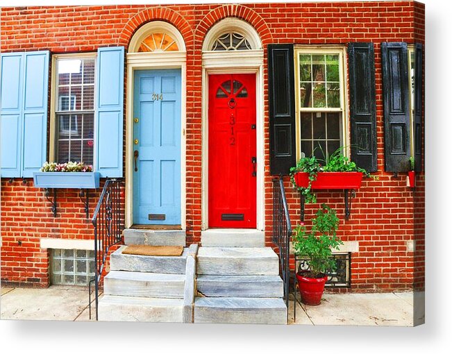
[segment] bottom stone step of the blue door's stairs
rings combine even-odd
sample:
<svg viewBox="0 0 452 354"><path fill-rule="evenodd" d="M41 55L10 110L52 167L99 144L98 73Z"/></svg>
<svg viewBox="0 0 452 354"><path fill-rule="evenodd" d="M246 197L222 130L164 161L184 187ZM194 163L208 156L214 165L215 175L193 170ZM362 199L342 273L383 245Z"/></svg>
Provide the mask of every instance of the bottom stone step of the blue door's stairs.
<svg viewBox="0 0 452 354"><path fill-rule="evenodd" d="M183 300L103 295L99 298L99 321L183 321Z"/></svg>

